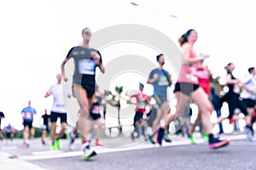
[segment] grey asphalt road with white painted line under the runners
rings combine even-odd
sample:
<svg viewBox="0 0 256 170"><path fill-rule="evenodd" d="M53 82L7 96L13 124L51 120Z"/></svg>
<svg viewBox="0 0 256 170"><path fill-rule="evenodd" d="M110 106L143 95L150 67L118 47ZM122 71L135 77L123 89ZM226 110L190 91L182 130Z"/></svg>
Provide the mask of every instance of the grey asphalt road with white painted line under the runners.
<svg viewBox="0 0 256 170"><path fill-rule="evenodd" d="M188 139L174 136L172 144L164 143L161 147L143 140L131 142L125 137L105 139L102 143L107 146L93 146L98 155L89 161L81 159L79 140L73 150L64 147L63 150L50 151L49 145L42 146L40 140L34 139L31 148L24 149L20 142L15 141L2 145L0 152L47 170L256 169L255 142L249 142L242 133L226 134L221 138L230 139L231 143L219 150L208 149L207 143L200 137L198 144L189 144Z"/></svg>

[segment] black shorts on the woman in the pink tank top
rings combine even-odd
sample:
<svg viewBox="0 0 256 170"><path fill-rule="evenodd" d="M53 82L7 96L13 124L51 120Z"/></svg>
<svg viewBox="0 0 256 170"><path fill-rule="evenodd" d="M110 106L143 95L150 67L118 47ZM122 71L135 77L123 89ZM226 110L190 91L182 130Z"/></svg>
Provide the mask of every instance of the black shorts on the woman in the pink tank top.
<svg viewBox="0 0 256 170"><path fill-rule="evenodd" d="M193 84L189 82L176 82L173 93L181 92L187 96L190 96L197 88L200 88L199 84Z"/></svg>

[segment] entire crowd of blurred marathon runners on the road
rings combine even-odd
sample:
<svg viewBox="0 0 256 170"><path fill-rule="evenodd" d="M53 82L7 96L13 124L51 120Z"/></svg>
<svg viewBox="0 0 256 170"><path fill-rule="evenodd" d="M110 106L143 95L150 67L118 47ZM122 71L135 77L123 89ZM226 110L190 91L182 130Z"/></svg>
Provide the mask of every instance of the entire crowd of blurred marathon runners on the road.
<svg viewBox="0 0 256 170"><path fill-rule="evenodd" d="M47 110L45 110L42 116L44 120L42 124L42 144L46 144L45 139L49 133L51 139L50 150L61 149L61 138L66 135L70 148L74 139L79 135L84 152L82 156L84 160L89 159L91 156L96 156L96 151L91 150L90 147L94 123L97 125L95 144L98 146L102 145L100 139L103 122L106 118L106 104L102 104L104 97L99 92L96 84L96 68L99 68L104 73L105 67L102 63L100 51L90 47L91 36L90 28L84 28L82 30L83 43L68 51L67 56L61 63L61 73L56 76L57 83L51 86L44 95L45 98L53 96L54 101L50 113L48 114ZM132 140L143 136L143 139L149 140L152 144L161 145L163 140L172 142L171 133L169 132L170 123L182 122L177 126L176 133L185 133L191 140L191 143L195 144L195 127L200 127L200 132L207 140L209 148L218 149L230 144L230 140L218 139L212 133L213 126L219 126L218 133L221 134L224 133L221 124L224 119L229 119L230 124L232 124L238 118L243 118L246 122L243 131L247 134L249 141L254 141L253 123L256 119L255 68L253 66L247 68L247 76L240 80L234 77L232 73L235 70L234 63L229 63L224 67L227 72L225 86L229 90L224 95L215 94L216 90L212 86L211 71L204 64L204 59L210 56L208 54L196 54L194 50L197 36L197 32L194 29L190 29L178 39L183 60L176 82L172 81L172 73L167 71L168 68L164 68L165 54L159 54L155 57L159 66L152 68L152 71L148 73L148 80L146 82L153 86L154 94L144 94L144 83L137 82L137 93L127 96L129 98L127 99L127 104L136 105L133 122L134 130L131 132ZM69 59L74 60L72 93L63 96L61 83L62 80L69 81L65 73L65 65ZM173 94L177 101L175 111L171 110L170 101L168 100L167 89L170 87L173 87ZM66 97L77 99L79 104L79 110L73 113L78 114L79 119L72 130L67 130L67 111L64 103L64 98ZM229 107L229 114L226 117L220 112L224 102ZM191 115L194 114L190 108L192 103L198 108L197 117L193 123L190 121ZM104 116L102 116L102 108L104 108ZM236 109L239 109L244 116L237 116L235 114ZM211 121L213 111L218 116L216 122ZM24 147L29 147L29 132L32 128L34 114L37 114L37 111L32 108L31 101L29 101L28 106L21 111L24 125ZM154 116L153 120L152 116ZM56 122L58 119L61 122L61 130L59 133L56 133ZM151 119L151 124L148 122L149 119ZM147 124L150 124L149 127L152 130L150 134L147 133ZM0 132L1 136L2 133Z"/></svg>

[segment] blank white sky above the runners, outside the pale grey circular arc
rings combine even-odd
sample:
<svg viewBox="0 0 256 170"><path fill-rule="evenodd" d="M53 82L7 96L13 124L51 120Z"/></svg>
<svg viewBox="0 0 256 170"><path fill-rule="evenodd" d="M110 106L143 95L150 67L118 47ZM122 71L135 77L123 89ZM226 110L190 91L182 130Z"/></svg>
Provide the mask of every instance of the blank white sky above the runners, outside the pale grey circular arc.
<svg viewBox="0 0 256 170"><path fill-rule="evenodd" d="M68 50L82 40L80 32L86 26L92 31L119 24L150 26L175 43L195 28L199 34L196 52L211 55L207 63L212 72L223 74L224 65L234 62L241 76L255 65L253 7L253 0L1 1L0 111L6 115L4 122L20 126L20 111L31 99L38 111L34 123L38 126L44 109L50 111L52 103L44 94L56 82L55 74L61 71ZM122 48L114 50L122 54ZM102 50L104 64L112 53L110 48ZM143 54L150 55L147 50Z"/></svg>

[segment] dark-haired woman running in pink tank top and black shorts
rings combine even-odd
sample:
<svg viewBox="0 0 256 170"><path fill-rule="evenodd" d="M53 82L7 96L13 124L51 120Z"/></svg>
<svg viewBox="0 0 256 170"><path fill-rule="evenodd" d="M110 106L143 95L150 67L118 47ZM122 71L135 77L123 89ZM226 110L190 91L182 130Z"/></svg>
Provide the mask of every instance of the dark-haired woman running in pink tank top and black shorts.
<svg viewBox="0 0 256 170"><path fill-rule="evenodd" d="M185 108L189 105L189 99L192 99L201 112L203 127L209 134L209 148L218 149L228 145L230 141L219 140L213 137L211 122L212 104L208 99L206 99L206 94L200 87L198 78L195 76L196 65L200 65L200 61L209 57L209 55L198 56L195 54L194 44L196 40L197 32L194 29L190 29L178 39L183 54L183 62L174 89L174 94L177 99L176 113L168 114L166 116L164 125L158 130L157 140L158 143L161 144L161 139L163 138L166 127L176 117L184 115Z"/></svg>

